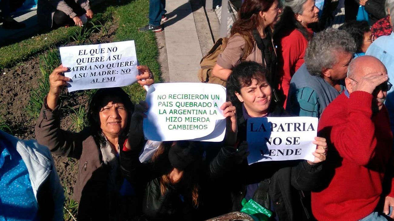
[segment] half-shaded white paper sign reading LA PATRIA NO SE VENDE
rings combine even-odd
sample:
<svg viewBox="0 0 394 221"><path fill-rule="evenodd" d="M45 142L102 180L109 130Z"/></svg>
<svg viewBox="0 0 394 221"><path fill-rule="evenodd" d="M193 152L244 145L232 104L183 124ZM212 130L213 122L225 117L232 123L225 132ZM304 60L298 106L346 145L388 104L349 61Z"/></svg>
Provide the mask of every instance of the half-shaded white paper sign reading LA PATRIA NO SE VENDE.
<svg viewBox="0 0 394 221"><path fill-rule="evenodd" d="M249 164L275 160L310 160L316 144L318 118L264 117L247 120Z"/></svg>

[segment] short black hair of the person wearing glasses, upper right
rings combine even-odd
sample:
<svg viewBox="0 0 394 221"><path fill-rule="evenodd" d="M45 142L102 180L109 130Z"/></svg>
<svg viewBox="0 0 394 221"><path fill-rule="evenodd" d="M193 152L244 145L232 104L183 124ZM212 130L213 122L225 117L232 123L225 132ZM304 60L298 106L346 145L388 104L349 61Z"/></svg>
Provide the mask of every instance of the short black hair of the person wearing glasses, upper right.
<svg viewBox="0 0 394 221"><path fill-rule="evenodd" d="M339 30L345 30L348 32L357 45L357 53L362 52L361 46L364 43L364 33L371 31L369 24L366 21L348 21L341 25Z"/></svg>

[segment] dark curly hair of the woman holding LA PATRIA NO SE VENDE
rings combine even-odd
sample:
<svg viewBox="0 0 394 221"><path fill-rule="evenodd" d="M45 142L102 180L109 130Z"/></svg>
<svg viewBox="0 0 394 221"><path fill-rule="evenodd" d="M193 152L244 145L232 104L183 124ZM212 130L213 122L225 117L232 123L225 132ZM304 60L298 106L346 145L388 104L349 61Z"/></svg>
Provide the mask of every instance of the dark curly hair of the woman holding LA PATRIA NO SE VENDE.
<svg viewBox="0 0 394 221"><path fill-rule="evenodd" d="M232 69L227 79L227 99L239 109L242 107L242 103L238 100L235 92L241 94L241 88L250 86L252 79L256 79L258 83L262 81L268 81L269 83L269 76L269 70L261 64L254 61L241 62Z"/></svg>

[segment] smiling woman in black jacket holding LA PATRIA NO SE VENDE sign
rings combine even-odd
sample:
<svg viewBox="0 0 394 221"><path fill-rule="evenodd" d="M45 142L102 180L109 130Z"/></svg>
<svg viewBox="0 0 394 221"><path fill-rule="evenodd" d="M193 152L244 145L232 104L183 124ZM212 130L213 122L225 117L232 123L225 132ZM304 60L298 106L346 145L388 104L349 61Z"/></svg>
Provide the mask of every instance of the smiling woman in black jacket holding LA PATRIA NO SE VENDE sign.
<svg viewBox="0 0 394 221"><path fill-rule="evenodd" d="M288 116L281 105L271 100L268 70L255 62L240 63L233 69L227 81L227 94L237 109L238 140L240 146L233 151L247 149L246 121L253 117ZM241 201L254 200L265 207L279 220L303 220L310 217L305 205L300 204L297 190L310 191L319 186L322 164L327 153L325 138L316 137L317 145L313 162L306 160L286 160L258 162L248 166L244 156L238 165L222 164L224 171L238 174L232 184L233 210L240 211ZM290 146L291 148L291 146ZM219 169L219 168L217 168ZM250 203L250 201L249 201ZM243 205L246 205L245 202Z"/></svg>

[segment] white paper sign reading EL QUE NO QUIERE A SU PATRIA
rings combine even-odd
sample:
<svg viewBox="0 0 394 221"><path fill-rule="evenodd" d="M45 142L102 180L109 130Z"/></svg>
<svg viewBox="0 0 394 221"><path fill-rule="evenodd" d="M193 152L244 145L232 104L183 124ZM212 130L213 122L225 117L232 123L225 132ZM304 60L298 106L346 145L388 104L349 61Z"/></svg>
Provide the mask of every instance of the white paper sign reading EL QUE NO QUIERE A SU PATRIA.
<svg viewBox="0 0 394 221"><path fill-rule="evenodd" d="M136 82L137 56L134 41L59 48L64 76L71 78L69 92L122 87Z"/></svg>

